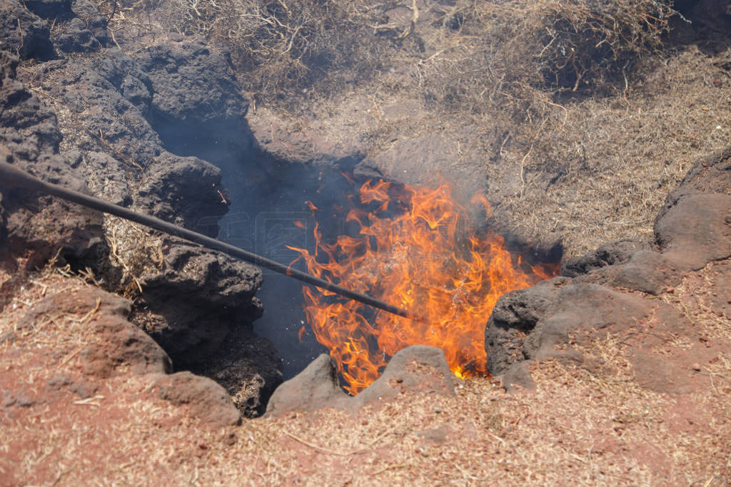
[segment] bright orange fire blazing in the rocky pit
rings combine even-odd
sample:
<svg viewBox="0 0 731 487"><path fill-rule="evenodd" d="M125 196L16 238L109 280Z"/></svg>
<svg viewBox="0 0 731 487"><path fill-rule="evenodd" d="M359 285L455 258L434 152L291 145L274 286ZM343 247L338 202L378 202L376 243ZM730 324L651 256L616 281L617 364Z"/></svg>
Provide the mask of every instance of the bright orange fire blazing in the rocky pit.
<svg viewBox="0 0 731 487"><path fill-rule="evenodd" d="M452 199L446 184L430 190L368 181L360 188L360 202L362 207L346 217L360 227L357 237L342 235L326 244L316 226L314 253L292 250L317 277L425 320L303 288L308 323L330 349L346 390L362 391L390 356L409 345L441 348L458 377L486 375L484 330L495 303L507 291L551 277L553 266L528 266L494 232L468 234L466 208Z"/></svg>

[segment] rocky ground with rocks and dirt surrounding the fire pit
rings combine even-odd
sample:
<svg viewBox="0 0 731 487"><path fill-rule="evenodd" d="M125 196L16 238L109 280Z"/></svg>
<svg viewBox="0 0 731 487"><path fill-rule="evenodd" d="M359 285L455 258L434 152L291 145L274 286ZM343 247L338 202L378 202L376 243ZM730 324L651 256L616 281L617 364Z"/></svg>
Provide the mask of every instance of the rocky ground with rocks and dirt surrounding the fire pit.
<svg viewBox="0 0 731 487"><path fill-rule="evenodd" d="M495 378L411 348L355 398L320 357L268 400L258 269L2 188L0 484L730 482L724 42L681 31L622 99L557 107L571 116L546 137L574 156L550 165L509 139L485 156L470 123L437 130L398 70L306 117L254 111L200 39L140 48L85 0L0 4L0 157L39 177L215 235L221 172L420 183L446 167L517 242L569 256L485 317ZM257 147L280 165L254 168Z"/></svg>

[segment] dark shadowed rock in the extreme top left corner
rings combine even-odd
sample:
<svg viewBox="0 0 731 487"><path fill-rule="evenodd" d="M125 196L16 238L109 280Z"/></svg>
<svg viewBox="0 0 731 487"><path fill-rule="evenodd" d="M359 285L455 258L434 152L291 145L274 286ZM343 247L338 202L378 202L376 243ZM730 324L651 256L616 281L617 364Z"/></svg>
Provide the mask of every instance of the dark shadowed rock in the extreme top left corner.
<svg viewBox="0 0 731 487"><path fill-rule="evenodd" d="M23 59L44 61L56 55L48 22L29 12L18 0L0 0L0 50Z"/></svg>

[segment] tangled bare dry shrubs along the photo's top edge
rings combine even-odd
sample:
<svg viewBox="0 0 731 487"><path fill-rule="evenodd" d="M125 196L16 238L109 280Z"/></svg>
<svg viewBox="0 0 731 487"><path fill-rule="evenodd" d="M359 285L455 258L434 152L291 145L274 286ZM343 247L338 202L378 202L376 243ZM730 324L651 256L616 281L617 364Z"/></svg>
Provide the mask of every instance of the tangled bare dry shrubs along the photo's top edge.
<svg viewBox="0 0 731 487"><path fill-rule="evenodd" d="M101 0L115 24L225 47L256 99L296 102L404 66L427 101L540 112L562 92L621 91L674 11L653 0ZM406 12L398 18L398 11ZM126 29L129 31L129 29ZM309 96L312 96L311 94Z"/></svg>

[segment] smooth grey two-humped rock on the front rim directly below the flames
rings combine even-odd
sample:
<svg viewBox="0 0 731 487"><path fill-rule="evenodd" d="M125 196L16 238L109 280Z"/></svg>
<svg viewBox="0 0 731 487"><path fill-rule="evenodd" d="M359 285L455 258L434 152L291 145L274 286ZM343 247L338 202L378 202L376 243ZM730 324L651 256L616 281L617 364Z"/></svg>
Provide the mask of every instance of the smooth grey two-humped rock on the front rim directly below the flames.
<svg viewBox="0 0 731 487"><path fill-rule="evenodd" d="M314 411L323 407L355 410L397 398L406 392L454 394L458 378L450 370L439 348L414 345L396 353L381 377L355 397L338 384L338 371L329 356L322 354L297 376L274 391L267 415L292 411Z"/></svg>

